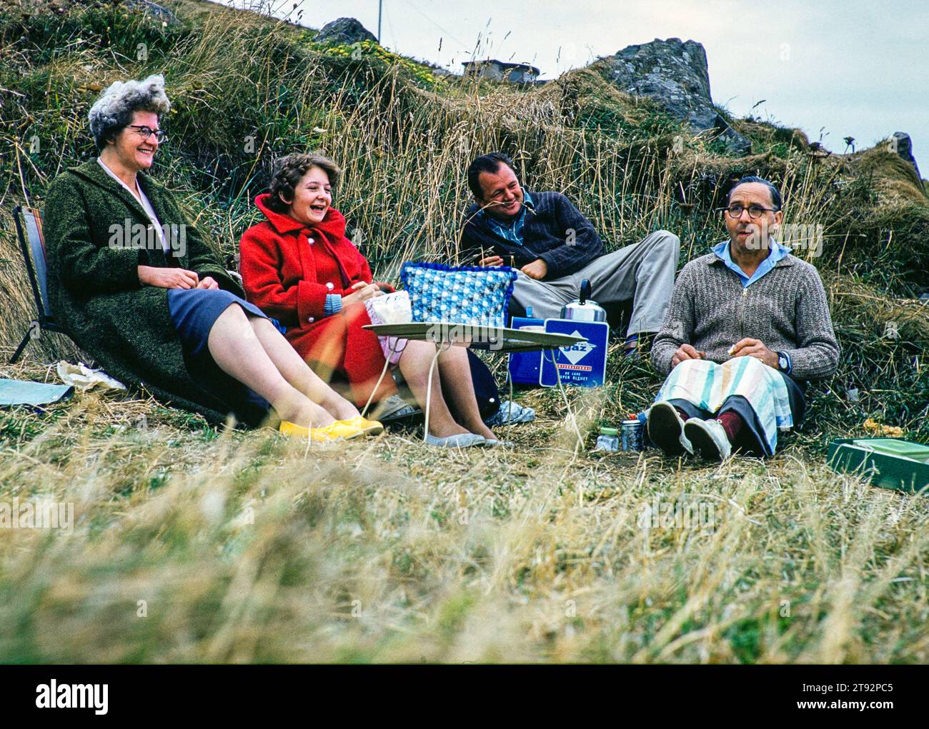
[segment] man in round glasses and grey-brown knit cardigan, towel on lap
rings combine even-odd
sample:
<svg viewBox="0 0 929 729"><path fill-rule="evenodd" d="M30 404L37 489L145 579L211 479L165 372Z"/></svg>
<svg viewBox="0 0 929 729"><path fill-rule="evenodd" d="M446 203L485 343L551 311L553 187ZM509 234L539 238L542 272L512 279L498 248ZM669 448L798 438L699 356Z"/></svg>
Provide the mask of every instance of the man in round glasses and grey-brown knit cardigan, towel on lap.
<svg viewBox="0 0 929 729"><path fill-rule="evenodd" d="M709 460L734 449L770 456L798 425L805 385L838 367L826 292L815 266L774 238L779 190L743 177L723 209L727 241L687 264L651 350L667 375L648 436L669 455Z"/></svg>

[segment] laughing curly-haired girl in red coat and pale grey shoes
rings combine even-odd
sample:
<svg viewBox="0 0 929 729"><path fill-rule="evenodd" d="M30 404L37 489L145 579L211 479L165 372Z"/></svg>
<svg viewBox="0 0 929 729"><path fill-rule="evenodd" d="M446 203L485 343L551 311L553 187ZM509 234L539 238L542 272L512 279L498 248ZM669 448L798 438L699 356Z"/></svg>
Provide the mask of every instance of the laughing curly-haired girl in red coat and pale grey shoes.
<svg viewBox="0 0 929 729"><path fill-rule="evenodd" d="M367 260L346 238L345 217L331 207L340 172L318 154L282 158L270 191L255 199L266 220L242 235L240 267L248 300L281 322L287 341L323 379L345 377L351 399L362 405L385 362L377 336L362 328L371 323L364 302L392 289L373 283ZM399 356L403 378L423 408L434 355L434 345L407 341ZM385 378L373 399L394 389ZM462 347L438 357L426 441L452 447L497 442L480 418Z"/></svg>

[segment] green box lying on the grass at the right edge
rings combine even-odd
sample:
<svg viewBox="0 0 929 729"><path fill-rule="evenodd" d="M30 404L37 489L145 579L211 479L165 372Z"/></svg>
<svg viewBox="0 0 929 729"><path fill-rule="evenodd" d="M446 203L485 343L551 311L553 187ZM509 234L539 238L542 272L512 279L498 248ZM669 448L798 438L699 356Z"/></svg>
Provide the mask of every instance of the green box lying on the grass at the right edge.
<svg viewBox="0 0 929 729"><path fill-rule="evenodd" d="M829 444L826 462L835 471L870 475L881 488L914 493L929 486L929 446L902 438L839 438Z"/></svg>

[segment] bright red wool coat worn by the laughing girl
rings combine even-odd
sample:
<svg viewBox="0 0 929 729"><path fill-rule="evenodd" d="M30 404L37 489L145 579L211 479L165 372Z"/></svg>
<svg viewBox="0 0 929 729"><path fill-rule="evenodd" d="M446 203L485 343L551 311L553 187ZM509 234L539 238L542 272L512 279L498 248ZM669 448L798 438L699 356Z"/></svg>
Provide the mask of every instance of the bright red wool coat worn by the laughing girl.
<svg viewBox="0 0 929 729"><path fill-rule="evenodd" d="M240 271L248 300L287 328L284 336L321 376L347 379L351 399L364 405L384 368L384 353L364 304L325 316L327 293L351 293L357 281L372 282L371 267L346 238L346 219L334 208L307 226L268 207L268 193L255 198L267 218L242 235ZM375 399L396 392L386 376Z"/></svg>

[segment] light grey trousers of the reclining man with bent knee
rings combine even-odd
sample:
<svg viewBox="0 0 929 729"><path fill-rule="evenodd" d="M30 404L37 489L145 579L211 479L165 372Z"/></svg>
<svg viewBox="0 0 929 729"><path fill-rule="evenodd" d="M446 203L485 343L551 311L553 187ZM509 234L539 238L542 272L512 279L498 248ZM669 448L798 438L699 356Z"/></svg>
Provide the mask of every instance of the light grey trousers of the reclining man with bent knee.
<svg viewBox="0 0 929 729"><path fill-rule="evenodd" d="M595 258L581 270L559 279L538 281L517 273L513 299L532 316L556 318L561 307L578 298L581 281L590 279L591 298L600 305L633 301L629 334L658 332L674 290L674 271L681 241L674 233L656 230L641 241Z"/></svg>

